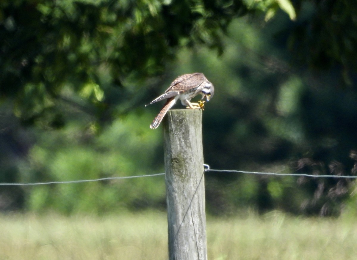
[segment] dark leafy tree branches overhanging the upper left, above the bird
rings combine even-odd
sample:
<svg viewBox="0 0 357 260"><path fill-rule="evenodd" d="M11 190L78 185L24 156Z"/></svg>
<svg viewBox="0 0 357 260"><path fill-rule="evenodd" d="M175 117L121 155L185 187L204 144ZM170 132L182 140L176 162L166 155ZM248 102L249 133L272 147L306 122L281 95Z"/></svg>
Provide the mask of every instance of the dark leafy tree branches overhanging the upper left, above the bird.
<svg viewBox="0 0 357 260"><path fill-rule="evenodd" d="M222 52L220 30L245 11L238 0L2 1L1 98L15 98L17 116L29 123L55 110L64 88L116 105L113 91L142 88L178 47Z"/></svg>

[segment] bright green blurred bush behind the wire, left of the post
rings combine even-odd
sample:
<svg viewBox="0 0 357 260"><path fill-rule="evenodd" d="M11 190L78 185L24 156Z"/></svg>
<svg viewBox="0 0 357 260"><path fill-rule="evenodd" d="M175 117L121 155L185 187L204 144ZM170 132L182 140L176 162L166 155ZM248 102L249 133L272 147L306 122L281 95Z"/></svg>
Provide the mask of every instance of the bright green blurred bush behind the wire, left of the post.
<svg viewBox="0 0 357 260"><path fill-rule="evenodd" d="M151 152L159 136L145 131L149 124L150 120L143 116L131 116L117 119L98 136L92 132L93 127L83 129L75 123L63 131L41 133L29 153L31 166L26 181L97 179L159 170L161 167L152 165ZM27 203L30 210L52 209L65 214L160 208L164 186L160 177L36 186L29 190Z"/></svg>

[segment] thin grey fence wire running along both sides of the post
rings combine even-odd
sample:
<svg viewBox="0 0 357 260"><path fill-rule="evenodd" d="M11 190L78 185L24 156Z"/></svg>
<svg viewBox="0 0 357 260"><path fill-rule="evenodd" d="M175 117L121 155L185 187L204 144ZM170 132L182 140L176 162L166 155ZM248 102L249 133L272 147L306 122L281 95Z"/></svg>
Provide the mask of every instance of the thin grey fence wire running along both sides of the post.
<svg viewBox="0 0 357 260"><path fill-rule="evenodd" d="M203 164L205 172L223 172L223 173L245 173L245 174L258 174L258 175L273 175L278 177L293 176L293 177L310 177L310 178L344 178L344 179L357 179L354 175L312 175L306 173L272 173L272 172L250 172L245 170L220 170L211 169L208 164ZM25 186L25 185L48 185L48 184L65 184L65 183L83 183L83 182L100 182L102 180L121 180L121 179L133 179L141 177L154 177L165 175L165 173L155 173L148 175L134 175L134 176L122 176L122 177L105 177L99 179L89 180L67 180L67 181L53 181L53 182L35 182L35 183L0 183L0 186Z"/></svg>

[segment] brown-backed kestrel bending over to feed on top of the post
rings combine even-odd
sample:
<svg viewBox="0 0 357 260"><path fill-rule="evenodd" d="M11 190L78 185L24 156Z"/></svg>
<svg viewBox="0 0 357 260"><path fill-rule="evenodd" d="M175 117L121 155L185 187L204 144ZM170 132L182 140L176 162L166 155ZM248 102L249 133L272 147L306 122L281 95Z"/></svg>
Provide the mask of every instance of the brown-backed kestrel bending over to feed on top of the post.
<svg viewBox="0 0 357 260"><path fill-rule="evenodd" d="M185 74L176 78L176 80L171 83L170 87L165 91L164 94L150 102L150 104L152 104L167 98L164 107L155 117L154 121L152 121L150 128L155 129L159 126L167 111L169 111L169 109L174 106L178 99L181 100L183 106L197 109L202 108L203 102L205 101L200 101L199 104L191 103L191 98L201 94L201 100L206 97L208 102L213 97L214 92L215 88L213 87L212 83L207 80L203 73L196 72L192 74Z"/></svg>

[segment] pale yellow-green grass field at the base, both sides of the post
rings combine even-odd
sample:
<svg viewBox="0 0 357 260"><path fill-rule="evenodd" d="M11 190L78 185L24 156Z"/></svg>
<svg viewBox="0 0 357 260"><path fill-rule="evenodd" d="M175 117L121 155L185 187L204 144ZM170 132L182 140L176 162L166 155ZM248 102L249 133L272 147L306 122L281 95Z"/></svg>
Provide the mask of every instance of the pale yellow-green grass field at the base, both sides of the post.
<svg viewBox="0 0 357 260"><path fill-rule="evenodd" d="M208 259L357 257L357 221L295 218L272 212L208 218ZM167 259L165 213L95 216L0 216L0 260Z"/></svg>

